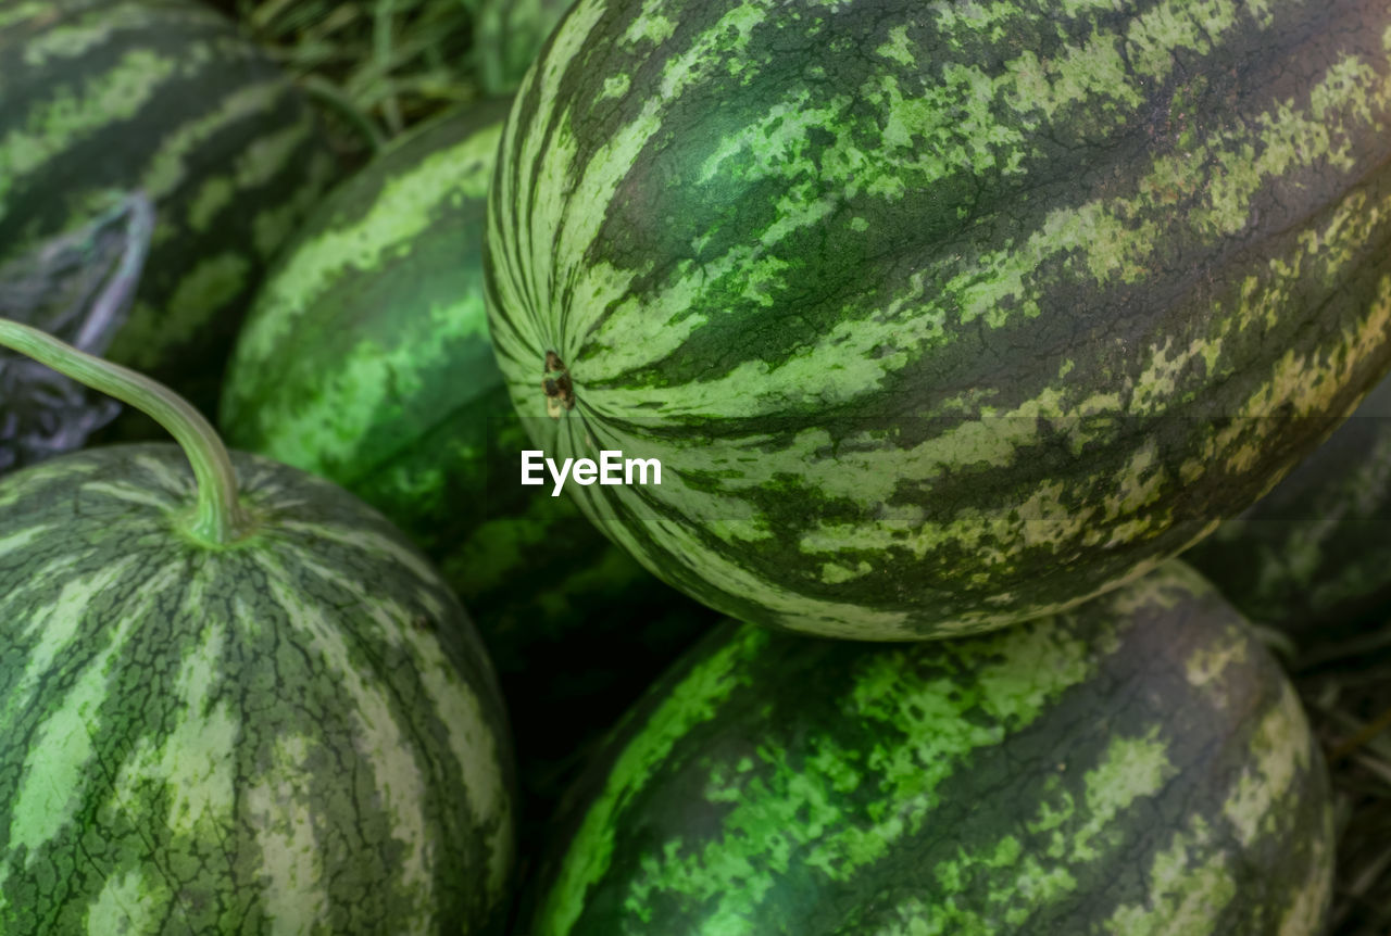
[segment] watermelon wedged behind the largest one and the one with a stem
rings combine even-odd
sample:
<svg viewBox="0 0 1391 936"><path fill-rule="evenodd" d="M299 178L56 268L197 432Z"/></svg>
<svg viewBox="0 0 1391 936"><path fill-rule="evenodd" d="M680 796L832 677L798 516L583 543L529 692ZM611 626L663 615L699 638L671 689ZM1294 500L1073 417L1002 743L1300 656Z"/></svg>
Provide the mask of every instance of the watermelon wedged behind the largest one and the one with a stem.
<svg viewBox="0 0 1391 936"><path fill-rule="evenodd" d="M221 428L352 491L440 565L501 676L530 837L586 743L716 616L569 498L516 483L526 433L480 263L505 114L498 102L421 128L324 200L253 303Z"/></svg>

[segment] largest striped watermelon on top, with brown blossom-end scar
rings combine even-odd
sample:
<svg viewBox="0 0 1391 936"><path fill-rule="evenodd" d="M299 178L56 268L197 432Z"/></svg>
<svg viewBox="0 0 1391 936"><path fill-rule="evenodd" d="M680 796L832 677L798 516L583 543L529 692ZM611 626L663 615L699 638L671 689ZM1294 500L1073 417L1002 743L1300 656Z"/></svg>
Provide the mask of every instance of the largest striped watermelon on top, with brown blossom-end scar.
<svg viewBox="0 0 1391 936"><path fill-rule="evenodd" d="M491 330L537 448L740 620L964 634L1249 506L1391 364L1381 0L581 0Z"/></svg>

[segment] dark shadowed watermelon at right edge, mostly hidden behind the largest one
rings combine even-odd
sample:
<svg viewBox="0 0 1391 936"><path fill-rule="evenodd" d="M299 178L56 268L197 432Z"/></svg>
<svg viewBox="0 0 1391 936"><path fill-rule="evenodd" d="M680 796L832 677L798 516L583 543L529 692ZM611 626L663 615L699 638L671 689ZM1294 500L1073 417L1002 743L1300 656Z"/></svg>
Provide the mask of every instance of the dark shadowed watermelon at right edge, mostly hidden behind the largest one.
<svg viewBox="0 0 1391 936"><path fill-rule="evenodd" d="M1244 615L1296 640L1380 627L1391 608L1391 378L1184 556Z"/></svg>

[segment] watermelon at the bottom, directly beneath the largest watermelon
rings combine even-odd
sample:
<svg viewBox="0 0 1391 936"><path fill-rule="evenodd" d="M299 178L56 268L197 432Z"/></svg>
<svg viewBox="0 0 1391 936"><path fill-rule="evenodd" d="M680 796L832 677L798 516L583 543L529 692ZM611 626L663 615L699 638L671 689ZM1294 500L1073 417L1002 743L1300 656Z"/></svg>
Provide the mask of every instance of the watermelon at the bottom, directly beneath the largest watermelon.
<svg viewBox="0 0 1391 936"><path fill-rule="evenodd" d="M1333 885L1298 697L1177 560L954 641L725 624L573 802L527 936L1312 936Z"/></svg>

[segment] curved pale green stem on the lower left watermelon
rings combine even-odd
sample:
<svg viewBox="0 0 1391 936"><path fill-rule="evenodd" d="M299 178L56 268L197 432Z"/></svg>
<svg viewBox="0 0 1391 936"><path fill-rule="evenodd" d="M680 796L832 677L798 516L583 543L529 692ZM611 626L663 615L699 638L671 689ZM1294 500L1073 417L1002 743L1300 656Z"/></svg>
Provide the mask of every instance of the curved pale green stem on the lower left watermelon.
<svg viewBox="0 0 1391 936"><path fill-rule="evenodd" d="M0 348L8 348L64 377L134 406L170 431L184 449L198 483L198 505L185 533L209 547L235 542L252 520L238 501L236 471L227 446L193 405L172 389L128 367L78 350L31 325L0 317Z"/></svg>

